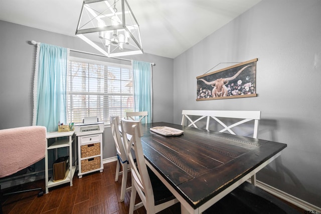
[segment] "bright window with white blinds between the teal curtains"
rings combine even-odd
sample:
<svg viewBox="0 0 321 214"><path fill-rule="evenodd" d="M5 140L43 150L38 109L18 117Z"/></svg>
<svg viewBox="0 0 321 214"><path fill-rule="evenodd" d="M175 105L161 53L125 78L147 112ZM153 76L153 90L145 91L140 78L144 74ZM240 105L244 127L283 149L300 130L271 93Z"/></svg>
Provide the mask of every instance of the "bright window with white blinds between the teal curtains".
<svg viewBox="0 0 321 214"><path fill-rule="evenodd" d="M131 66L70 57L67 76L69 122L97 116L109 124L110 115L121 118L133 111Z"/></svg>

